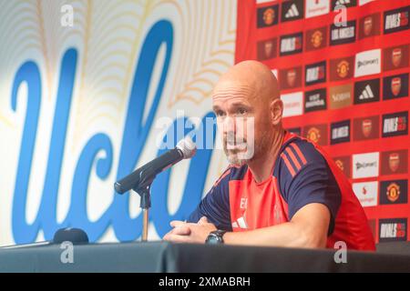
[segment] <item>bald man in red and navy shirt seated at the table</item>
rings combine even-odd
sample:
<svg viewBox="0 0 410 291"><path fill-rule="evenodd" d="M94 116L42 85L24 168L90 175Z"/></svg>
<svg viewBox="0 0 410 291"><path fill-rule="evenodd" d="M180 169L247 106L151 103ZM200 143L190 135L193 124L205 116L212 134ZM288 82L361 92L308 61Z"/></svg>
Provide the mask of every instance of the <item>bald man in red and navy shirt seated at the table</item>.
<svg viewBox="0 0 410 291"><path fill-rule="evenodd" d="M231 165L187 222L171 222L165 240L375 249L342 171L322 148L283 129L278 81L268 67L234 65L212 102Z"/></svg>

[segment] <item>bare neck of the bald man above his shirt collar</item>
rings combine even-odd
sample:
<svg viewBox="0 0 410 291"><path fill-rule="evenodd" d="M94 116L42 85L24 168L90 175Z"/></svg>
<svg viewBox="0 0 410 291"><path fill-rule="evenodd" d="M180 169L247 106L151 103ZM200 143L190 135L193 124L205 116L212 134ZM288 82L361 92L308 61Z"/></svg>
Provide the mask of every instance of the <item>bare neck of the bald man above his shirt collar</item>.
<svg viewBox="0 0 410 291"><path fill-rule="evenodd" d="M270 149L262 156L248 162L252 176L256 183L265 181L272 176L272 170L279 150L282 147L285 131L282 129L272 140Z"/></svg>

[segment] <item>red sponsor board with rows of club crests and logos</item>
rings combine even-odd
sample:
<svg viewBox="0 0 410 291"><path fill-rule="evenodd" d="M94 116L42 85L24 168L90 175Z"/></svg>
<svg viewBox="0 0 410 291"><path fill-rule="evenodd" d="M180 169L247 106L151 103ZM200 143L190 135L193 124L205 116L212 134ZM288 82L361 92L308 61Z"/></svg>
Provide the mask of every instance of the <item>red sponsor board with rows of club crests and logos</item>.
<svg viewBox="0 0 410 291"><path fill-rule="evenodd" d="M407 240L408 1L239 1L235 61L279 78L286 128L323 146L377 242Z"/></svg>

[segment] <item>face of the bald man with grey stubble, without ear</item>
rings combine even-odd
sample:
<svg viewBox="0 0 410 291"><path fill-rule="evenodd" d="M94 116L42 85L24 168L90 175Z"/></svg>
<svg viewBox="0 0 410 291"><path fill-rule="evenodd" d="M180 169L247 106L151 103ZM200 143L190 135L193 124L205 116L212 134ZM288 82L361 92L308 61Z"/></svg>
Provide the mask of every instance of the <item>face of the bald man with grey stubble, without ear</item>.
<svg viewBox="0 0 410 291"><path fill-rule="evenodd" d="M235 83L219 85L212 101L231 165L241 166L259 156L270 136L269 105L261 105L250 86Z"/></svg>

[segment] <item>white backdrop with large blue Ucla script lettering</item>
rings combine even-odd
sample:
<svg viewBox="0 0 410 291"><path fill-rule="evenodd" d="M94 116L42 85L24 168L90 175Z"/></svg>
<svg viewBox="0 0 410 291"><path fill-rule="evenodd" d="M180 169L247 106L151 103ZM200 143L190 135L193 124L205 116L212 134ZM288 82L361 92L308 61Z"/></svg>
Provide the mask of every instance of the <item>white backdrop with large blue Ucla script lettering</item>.
<svg viewBox="0 0 410 291"><path fill-rule="evenodd" d="M205 130L211 88L233 65L236 9L234 0L1 0L0 245L63 226L92 241L141 236L138 195L113 184L160 155L176 126L173 144ZM161 174L149 239L186 218L225 167L209 146Z"/></svg>

